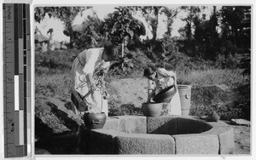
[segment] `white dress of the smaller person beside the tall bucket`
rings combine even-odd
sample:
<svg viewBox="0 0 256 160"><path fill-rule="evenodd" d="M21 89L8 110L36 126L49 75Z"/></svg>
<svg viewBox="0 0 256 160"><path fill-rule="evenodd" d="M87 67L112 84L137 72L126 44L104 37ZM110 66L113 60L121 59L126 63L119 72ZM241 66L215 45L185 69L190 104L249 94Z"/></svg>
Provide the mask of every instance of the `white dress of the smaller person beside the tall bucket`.
<svg viewBox="0 0 256 160"><path fill-rule="evenodd" d="M148 80L148 90L154 90L155 94L158 94L162 89L166 89L177 83L174 82L173 79L173 77L175 77L175 81L177 81L176 72L166 71L164 68L158 68L156 72L156 82L151 79ZM181 103L178 91L173 95L170 103L166 103L163 106L163 110L166 110L169 115L181 115Z"/></svg>

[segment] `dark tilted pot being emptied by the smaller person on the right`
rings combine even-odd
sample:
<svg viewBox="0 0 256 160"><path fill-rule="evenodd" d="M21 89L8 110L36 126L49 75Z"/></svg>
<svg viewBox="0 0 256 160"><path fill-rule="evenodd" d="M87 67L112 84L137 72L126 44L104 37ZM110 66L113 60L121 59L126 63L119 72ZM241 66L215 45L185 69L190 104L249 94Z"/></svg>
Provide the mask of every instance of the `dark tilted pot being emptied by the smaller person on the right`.
<svg viewBox="0 0 256 160"><path fill-rule="evenodd" d="M176 94L177 89L174 88L174 86L170 86L166 89L162 89L160 93L154 95L153 100L157 103L161 102L170 102L172 100L172 97L174 94Z"/></svg>

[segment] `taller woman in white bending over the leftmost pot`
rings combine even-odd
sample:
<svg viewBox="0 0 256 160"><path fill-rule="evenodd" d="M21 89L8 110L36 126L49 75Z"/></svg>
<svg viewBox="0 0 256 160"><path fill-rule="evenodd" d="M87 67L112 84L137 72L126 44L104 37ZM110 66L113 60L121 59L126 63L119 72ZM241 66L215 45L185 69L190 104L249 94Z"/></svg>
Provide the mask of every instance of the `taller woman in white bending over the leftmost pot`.
<svg viewBox="0 0 256 160"><path fill-rule="evenodd" d="M105 112L108 116L107 92L104 85L104 74L107 73L110 61L117 60L119 50L114 46L105 48L85 49L73 60L72 88L84 97L89 112ZM83 115L84 112L75 112Z"/></svg>

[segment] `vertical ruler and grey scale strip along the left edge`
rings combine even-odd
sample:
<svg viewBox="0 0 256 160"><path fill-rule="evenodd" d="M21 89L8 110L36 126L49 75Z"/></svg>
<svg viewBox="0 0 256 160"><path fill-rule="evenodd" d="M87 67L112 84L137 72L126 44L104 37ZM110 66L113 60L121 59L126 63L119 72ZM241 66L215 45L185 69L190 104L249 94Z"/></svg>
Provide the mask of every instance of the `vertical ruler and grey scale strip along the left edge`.
<svg viewBox="0 0 256 160"><path fill-rule="evenodd" d="M30 7L3 3L4 157L31 156Z"/></svg>

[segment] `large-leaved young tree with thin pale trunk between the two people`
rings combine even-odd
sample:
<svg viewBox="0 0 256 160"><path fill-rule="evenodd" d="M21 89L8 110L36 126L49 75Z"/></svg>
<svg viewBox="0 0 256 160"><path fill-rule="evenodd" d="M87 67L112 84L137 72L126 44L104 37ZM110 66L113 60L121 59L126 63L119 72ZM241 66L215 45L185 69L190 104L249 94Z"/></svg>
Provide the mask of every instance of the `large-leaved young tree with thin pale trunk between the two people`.
<svg viewBox="0 0 256 160"><path fill-rule="evenodd" d="M133 63L131 62L130 51L125 48L129 43L129 39L132 40L141 35L145 35L145 27L143 23L131 16L131 13L127 7L115 8L116 11L113 14L108 14L105 19L105 24L103 31L105 32L105 37L108 38L112 43L122 44L122 58L121 68L124 72L130 72L133 69ZM126 55L124 53L126 52ZM129 57L129 58L128 58Z"/></svg>

